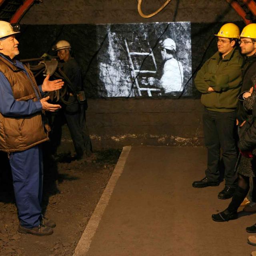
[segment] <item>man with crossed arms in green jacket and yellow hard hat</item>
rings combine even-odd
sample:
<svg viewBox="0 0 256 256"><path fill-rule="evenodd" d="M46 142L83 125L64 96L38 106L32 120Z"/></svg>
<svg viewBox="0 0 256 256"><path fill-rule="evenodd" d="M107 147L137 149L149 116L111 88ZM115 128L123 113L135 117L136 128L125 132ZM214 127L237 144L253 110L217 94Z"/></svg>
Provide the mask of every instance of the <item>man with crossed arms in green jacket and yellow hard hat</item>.
<svg viewBox="0 0 256 256"><path fill-rule="evenodd" d="M215 36L218 52L205 62L194 80L196 88L202 93L204 139L208 159L206 176L193 182L192 186L219 186L222 149L225 186L218 198L228 199L232 197L237 186L237 174L234 172L237 161L234 131L244 58L236 48L236 41L240 36L238 26L227 23Z"/></svg>

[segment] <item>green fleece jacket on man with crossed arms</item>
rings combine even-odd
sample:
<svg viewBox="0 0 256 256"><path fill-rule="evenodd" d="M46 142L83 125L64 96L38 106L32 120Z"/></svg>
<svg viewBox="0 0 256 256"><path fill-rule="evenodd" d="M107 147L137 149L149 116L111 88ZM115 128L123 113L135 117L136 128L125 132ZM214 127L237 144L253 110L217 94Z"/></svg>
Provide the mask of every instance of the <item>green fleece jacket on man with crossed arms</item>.
<svg viewBox="0 0 256 256"><path fill-rule="evenodd" d="M201 102L208 109L218 112L236 110L242 82L244 58L234 48L224 58L216 52L198 71L194 80L197 90L202 92ZM212 87L214 92L209 92Z"/></svg>

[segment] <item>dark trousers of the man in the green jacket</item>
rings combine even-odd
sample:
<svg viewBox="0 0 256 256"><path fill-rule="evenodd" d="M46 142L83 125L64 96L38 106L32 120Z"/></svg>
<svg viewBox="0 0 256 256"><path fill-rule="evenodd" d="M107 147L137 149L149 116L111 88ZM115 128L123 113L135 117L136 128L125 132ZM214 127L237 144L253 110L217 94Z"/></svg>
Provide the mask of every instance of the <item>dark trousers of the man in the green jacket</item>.
<svg viewBox="0 0 256 256"><path fill-rule="evenodd" d="M220 148L225 166L225 184L236 186L235 172L237 150L235 141L236 112L217 112L205 109L203 114L205 146L208 150L206 177L217 181L220 178Z"/></svg>

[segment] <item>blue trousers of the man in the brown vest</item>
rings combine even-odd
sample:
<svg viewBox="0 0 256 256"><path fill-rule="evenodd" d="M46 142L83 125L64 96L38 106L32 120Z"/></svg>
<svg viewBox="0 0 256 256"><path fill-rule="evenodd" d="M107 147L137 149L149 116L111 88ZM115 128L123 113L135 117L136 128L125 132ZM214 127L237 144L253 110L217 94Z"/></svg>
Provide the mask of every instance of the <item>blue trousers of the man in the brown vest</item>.
<svg viewBox="0 0 256 256"><path fill-rule="evenodd" d="M34 228L40 224L43 190L41 146L10 153L10 166L20 225Z"/></svg>

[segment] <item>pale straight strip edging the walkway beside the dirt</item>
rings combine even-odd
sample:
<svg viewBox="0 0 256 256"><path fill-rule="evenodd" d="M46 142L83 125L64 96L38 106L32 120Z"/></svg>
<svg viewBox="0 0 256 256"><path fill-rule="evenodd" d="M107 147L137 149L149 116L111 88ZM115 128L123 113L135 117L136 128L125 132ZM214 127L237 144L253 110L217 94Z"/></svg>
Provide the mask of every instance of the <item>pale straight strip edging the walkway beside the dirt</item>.
<svg viewBox="0 0 256 256"><path fill-rule="evenodd" d="M82 234L75 252L73 256L86 256L90 244L92 242L92 238L98 228L98 225L100 223L100 220L102 218L102 215L106 209L106 206L108 205L108 202L110 200L110 197L112 195L112 192L116 186L116 182L118 181L119 177L121 176L123 170L124 170L124 165L126 163L126 160L128 158L128 155L131 150L131 146L125 146L123 147L122 153L118 159L118 162L116 164L116 167L108 181L108 184L92 214L92 217L90 218L84 233Z"/></svg>

